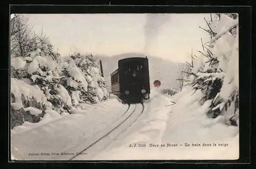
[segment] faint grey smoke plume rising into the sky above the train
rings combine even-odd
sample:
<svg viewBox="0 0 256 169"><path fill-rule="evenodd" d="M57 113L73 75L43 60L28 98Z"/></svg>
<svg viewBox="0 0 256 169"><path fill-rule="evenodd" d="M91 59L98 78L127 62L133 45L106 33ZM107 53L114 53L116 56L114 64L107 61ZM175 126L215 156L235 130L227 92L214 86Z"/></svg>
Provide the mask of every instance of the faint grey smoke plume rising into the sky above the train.
<svg viewBox="0 0 256 169"><path fill-rule="evenodd" d="M159 28L164 25L164 23L169 19L167 14L154 14L148 13L146 14L146 23L144 26L144 37L145 37L145 45L144 52L146 54L150 53L151 47L154 45L156 41L156 37L159 33Z"/></svg>

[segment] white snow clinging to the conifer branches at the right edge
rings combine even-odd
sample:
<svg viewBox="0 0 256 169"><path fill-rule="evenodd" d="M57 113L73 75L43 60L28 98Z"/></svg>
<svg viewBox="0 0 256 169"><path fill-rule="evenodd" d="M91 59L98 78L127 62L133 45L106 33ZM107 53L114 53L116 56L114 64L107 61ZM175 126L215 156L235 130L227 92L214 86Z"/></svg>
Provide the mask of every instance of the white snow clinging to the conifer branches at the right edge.
<svg viewBox="0 0 256 169"><path fill-rule="evenodd" d="M239 91L239 36L237 33L232 35L229 30L238 25L238 19L234 20L226 15L221 15L220 21L211 23L211 28L217 33L216 37L212 39L214 43L211 49L212 57L218 59L218 69L223 73L212 74L214 77L223 79L223 86L220 91L220 96L224 100L228 100L233 91ZM199 56L195 60L195 67L193 73L197 73L199 69L206 70L207 64L204 64L206 57ZM197 74L200 76L209 76L209 74Z"/></svg>

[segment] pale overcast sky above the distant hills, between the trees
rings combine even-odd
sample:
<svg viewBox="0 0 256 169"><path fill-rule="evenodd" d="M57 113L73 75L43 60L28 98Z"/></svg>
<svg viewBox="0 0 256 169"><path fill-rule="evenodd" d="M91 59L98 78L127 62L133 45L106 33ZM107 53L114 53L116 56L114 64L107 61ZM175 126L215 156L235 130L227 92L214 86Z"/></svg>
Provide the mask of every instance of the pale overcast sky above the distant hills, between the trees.
<svg viewBox="0 0 256 169"><path fill-rule="evenodd" d="M210 14L26 14L62 56L73 52L113 56L143 53L175 62L189 61L209 35Z"/></svg>

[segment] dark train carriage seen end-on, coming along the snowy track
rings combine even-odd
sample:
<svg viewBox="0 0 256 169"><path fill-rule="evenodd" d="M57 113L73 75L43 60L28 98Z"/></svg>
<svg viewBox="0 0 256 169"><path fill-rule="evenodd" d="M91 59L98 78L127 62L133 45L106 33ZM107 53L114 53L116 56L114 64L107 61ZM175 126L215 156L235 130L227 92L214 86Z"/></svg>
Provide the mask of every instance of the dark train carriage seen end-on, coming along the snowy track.
<svg viewBox="0 0 256 169"><path fill-rule="evenodd" d="M150 99L150 75L147 57L118 60L118 68L110 74L111 92L124 104L143 103Z"/></svg>

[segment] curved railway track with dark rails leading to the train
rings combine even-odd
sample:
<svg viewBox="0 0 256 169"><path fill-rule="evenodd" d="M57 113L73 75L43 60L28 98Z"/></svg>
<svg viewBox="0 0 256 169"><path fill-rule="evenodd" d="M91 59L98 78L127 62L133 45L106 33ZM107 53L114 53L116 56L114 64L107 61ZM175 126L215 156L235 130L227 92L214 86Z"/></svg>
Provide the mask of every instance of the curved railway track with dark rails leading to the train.
<svg viewBox="0 0 256 169"><path fill-rule="evenodd" d="M142 105L142 109L140 111L137 111L137 105ZM129 114L128 112L131 113ZM115 127L113 127L112 130L110 130L109 132L107 132L106 134L104 134L102 137L98 138L97 140L95 140L93 143L91 143L89 146L87 146L86 148L84 148L82 151L80 151L79 153L77 153L75 156L71 157L69 160L74 160L75 158L79 157L80 155L84 154L84 152L88 151L90 148L93 148L95 146L95 144L99 143L100 141L103 141L104 138L106 138L107 136L110 136L113 134L113 138L116 138L119 134L121 134L123 131L118 131L118 128L123 126L124 129L126 130L128 127L130 127L134 122L136 122L136 120L141 116L141 114L144 111L144 105L143 103L141 104L135 104L135 107L132 108L132 106L129 104L129 107L127 108L127 110L118 118L120 119L121 117L125 116L126 117L124 119L122 119L118 125L116 125ZM137 115L136 115L137 114ZM135 116L135 119L132 118L132 116ZM118 120L117 119L117 120ZM132 120L130 123L128 122L129 120ZM127 123L127 127L124 126L124 124ZM108 145L106 145L108 146Z"/></svg>

